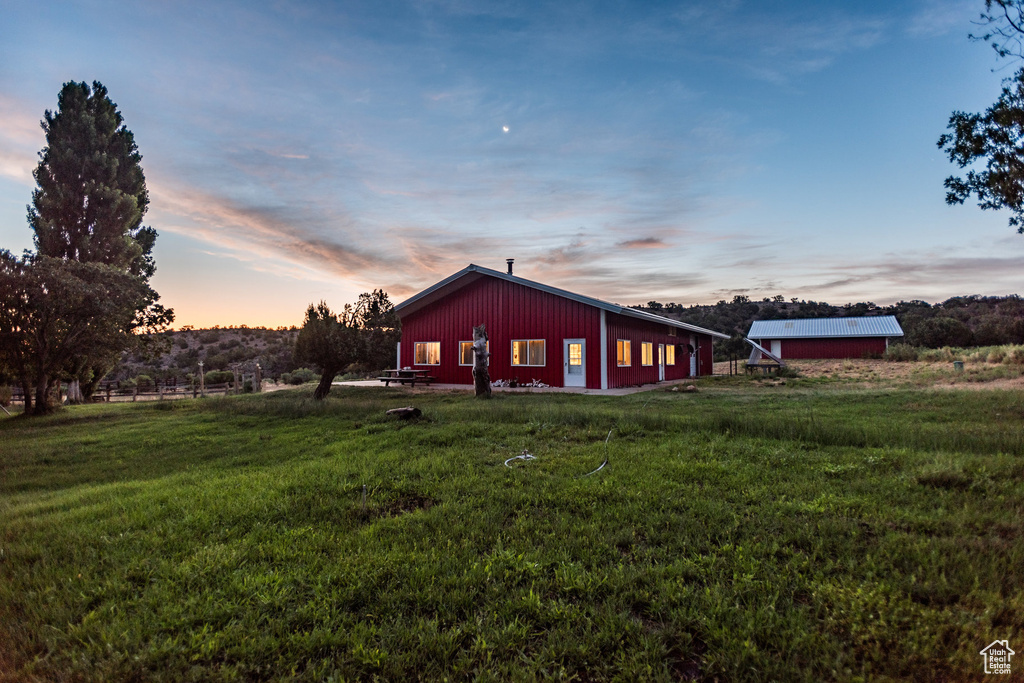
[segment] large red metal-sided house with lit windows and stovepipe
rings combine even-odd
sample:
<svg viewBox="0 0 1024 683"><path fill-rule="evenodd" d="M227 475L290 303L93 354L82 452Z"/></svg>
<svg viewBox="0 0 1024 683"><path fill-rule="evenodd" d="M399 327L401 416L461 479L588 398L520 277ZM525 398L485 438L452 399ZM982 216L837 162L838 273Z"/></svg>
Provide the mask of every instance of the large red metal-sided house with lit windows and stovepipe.
<svg viewBox="0 0 1024 683"><path fill-rule="evenodd" d="M398 367L473 383L473 327L494 380L608 389L710 375L727 335L470 264L395 306Z"/></svg>

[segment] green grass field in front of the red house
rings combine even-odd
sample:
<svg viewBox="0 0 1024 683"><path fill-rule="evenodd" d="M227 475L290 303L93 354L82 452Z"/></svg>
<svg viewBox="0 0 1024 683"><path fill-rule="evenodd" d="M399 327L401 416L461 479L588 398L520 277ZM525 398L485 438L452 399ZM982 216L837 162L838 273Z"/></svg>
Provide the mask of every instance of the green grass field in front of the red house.
<svg viewBox="0 0 1024 683"><path fill-rule="evenodd" d="M0 680L958 681L1021 651L1024 392L699 388L4 418Z"/></svg>

